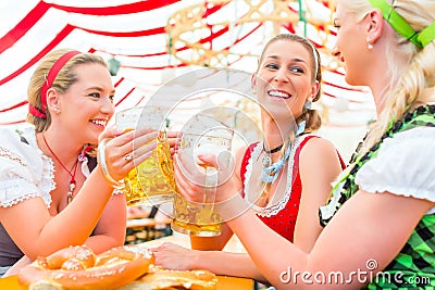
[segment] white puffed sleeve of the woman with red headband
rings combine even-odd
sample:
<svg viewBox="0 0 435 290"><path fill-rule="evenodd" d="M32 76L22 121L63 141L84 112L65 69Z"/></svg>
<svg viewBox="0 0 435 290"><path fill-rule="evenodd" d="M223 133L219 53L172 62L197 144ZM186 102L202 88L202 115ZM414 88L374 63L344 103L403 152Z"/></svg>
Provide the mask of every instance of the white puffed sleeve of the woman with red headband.
<svg viewBox="0 0 435 290"><path fill-rule="evenodd" d="M12 206L34 197L41 197L49 206L54 182L48 157L22 142L15 131L2 128L0 136L0 206Z"/></svg>

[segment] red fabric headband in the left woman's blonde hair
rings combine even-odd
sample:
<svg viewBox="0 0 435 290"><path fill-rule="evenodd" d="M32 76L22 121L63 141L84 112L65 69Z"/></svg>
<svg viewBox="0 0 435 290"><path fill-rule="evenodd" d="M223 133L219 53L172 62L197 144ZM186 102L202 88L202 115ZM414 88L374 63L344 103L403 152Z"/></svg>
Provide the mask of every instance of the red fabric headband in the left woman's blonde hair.
<svg viewBox="0 0 435 290"><path fill-rule="evenodd" d="M63 54L62 56L59 58L59 60L55 61L53 66L51 66L50 71L48 72L48 75L46 77L46 80L42 84L42 87L40 89L40 94L41 94L41 111L35 108L34 105L29 104L28 105L28 112L36 116L36 117L41 117L45 118L47 117L47 90L51 88L51 85L54 81L54 78L58 76L59 72L62 70L62 67L75 55L79 54L80 52L77 50L72 50Z"/></svg>

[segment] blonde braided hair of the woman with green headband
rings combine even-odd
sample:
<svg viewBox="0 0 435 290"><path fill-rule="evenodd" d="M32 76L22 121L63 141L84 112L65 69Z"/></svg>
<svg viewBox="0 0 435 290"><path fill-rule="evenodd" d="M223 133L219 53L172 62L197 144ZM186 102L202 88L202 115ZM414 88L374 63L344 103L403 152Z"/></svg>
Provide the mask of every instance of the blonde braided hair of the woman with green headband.
<svg viewBox="0 0 435 290"><path fill-rule="evenodd" d="M368 0L337 0L337 2L346 11L355 13L359 20L373 9ZM387 2L418 33L435 20L435 1L433 0L387 0ZM431 92L435 86L434 55L434 41L421 49L395 33L394 39L385 51L390 84L384 90L384 108L382 112L378 112L377 121L372 124L361 153L365 153L378 142L389 124L401 119L414 104L434 101L433 91Z"/></svg>

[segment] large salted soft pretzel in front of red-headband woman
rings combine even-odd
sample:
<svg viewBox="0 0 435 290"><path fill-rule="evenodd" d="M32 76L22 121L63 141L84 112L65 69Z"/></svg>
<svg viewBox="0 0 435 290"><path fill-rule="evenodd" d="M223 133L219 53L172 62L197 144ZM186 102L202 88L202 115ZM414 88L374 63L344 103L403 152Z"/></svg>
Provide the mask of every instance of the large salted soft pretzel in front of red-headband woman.
<svg viewBox="0 0 435 290"><path fill-rule="evenodd" d="M22 289L117 289L148 272L153 255L145 248L124 245L99 255L85 245L38 257L18 273Z"/></svg>

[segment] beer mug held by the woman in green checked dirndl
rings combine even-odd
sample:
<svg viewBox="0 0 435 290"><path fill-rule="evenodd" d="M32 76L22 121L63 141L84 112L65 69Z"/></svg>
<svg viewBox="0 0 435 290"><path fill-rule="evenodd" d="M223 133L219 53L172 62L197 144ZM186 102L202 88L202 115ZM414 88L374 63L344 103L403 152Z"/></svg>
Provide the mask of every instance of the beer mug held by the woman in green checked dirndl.
<svg viewBox="0 0 435 290"><path fill-rule="evenodd" d="M182 135L179 154L186 154L189 160L197 162L198 154L219 155L229 152L234 131L219 121L196 115ZM183 167L183 165L182 165ZM204 192L202 202L186 200L182 194L174 196L172 229L198 237L221 235L222 217L214 209L217 172L214 167L197 165L198 172L204 174Z"/></svg>

